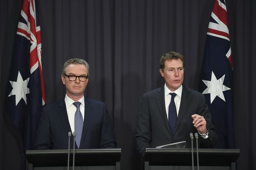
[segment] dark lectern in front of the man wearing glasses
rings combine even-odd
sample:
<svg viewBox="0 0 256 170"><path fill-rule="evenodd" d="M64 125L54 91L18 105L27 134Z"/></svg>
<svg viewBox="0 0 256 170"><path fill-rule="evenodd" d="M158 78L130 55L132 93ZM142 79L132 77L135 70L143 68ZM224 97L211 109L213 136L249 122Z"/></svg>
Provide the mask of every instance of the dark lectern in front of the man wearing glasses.
<svg viewBox="0 0 256 170"><path fill-rule="evenodd" d="M120 170L121 149L75 150L76 169ZM67 169L68 150L28 150L28 169ZM70 151L70 168L73 166L73 150Z"/></svg>

